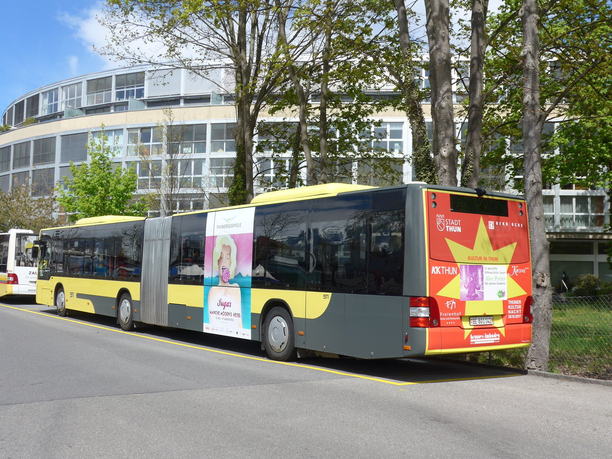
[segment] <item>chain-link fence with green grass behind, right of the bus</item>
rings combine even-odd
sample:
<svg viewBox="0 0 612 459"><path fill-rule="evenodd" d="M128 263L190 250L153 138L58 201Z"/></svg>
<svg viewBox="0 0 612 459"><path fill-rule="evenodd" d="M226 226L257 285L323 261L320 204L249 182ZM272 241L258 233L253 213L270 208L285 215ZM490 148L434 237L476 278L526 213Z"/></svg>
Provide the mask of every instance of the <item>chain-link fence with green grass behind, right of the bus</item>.
<svg viewBox="0 0 612 459"><path fill-rule="evenodd" d="M612 379L612 295L553 297L548 370Z"/></svg>

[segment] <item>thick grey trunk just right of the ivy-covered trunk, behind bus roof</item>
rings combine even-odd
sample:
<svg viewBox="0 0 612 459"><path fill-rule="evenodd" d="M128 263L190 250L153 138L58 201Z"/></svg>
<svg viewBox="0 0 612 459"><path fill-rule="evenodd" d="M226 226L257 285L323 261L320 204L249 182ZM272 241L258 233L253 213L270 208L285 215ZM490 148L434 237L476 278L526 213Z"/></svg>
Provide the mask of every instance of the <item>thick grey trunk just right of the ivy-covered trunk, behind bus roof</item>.
<svg viewBox="0 0 612 459"><path fill-rule="evenodd" d="M433 120L433 158L440 185L457 186L457 146L450 73L449 0L425 0L431 118Z"/></svg>

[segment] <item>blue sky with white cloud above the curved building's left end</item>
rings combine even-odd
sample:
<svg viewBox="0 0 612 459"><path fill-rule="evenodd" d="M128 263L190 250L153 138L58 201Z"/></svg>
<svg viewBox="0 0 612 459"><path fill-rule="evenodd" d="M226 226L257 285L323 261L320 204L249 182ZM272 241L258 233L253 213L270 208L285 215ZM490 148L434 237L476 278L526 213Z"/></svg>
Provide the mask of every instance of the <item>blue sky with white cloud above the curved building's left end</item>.
<svg viewBox="0 0 612 459"><path fill-rule="evenodd" d="M85 73L119 67L92 51L104 31L97 0L3 1L0 14L0 113L27 92Z"/></svg>

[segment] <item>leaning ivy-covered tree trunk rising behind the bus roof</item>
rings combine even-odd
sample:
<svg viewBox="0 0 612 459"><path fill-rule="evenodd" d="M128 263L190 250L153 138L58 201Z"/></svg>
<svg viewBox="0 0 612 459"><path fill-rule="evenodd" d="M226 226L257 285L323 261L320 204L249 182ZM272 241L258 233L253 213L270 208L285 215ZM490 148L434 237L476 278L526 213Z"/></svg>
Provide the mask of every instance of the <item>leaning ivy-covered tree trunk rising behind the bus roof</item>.
<svg viewBox="0 0 612 459"><path fill-rule="evenodd" d="M406 105L406 117L412 131L412 167L414 168L417 181L436 184L438 182L436 167L431 160L430 143L427 138L423 106L420 103L419 88L417 88L414 78L414 63L412 62L410 50L408 17L406 16L404 0L395 0L395 10L397 11L401 60L403 64L403 72L401 72L400 79Z"/></svg>

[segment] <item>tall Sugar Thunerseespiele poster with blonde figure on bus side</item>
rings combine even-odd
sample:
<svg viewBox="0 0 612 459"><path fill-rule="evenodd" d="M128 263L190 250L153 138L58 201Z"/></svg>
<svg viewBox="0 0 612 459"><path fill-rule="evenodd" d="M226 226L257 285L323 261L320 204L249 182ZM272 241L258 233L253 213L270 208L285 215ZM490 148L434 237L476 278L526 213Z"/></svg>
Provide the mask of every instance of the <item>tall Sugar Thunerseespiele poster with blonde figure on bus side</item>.
<svg viewBox="0 0 612 459"><path fill-rule="evenodd" d="M206 221L204 332L251 338L255 208L211 212Z"/></svg>

